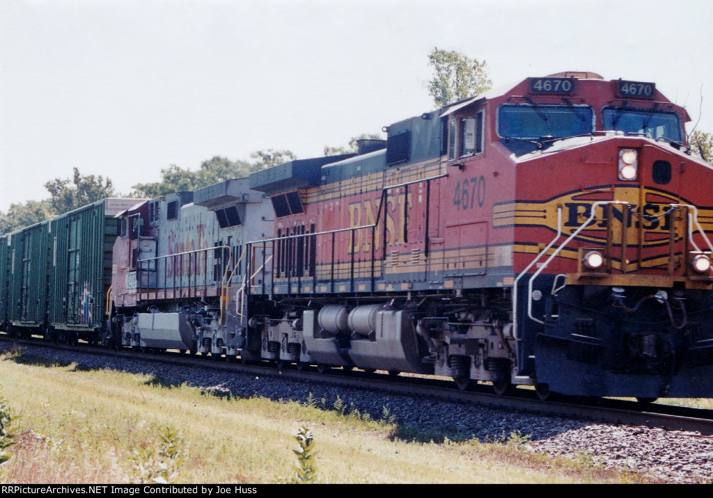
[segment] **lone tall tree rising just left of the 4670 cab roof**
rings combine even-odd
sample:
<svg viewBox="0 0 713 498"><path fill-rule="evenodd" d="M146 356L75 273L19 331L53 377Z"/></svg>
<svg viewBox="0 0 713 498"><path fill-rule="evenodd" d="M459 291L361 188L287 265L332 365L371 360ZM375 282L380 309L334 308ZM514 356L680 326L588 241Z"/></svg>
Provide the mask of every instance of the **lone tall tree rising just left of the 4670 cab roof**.
<svg viewBox="0 0 713 498"><path fill-rule="evenodd" d="M479 95L493 84L488 78L486 61L480 62L456 51L435 47L429 54L429 65L436 69L436 76L429 82L429 93L438 108Z"/></svg>

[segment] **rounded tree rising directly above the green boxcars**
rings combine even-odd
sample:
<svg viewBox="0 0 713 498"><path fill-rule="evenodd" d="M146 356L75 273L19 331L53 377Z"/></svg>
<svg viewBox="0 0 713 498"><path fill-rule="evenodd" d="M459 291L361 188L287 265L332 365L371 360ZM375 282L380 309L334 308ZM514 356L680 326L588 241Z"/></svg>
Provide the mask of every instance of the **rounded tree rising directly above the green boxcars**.
<svg viewBox="0 0 713 498"><path fill-rule="evenodd" d="M101 175L83 176L78 168L74 168L73 180L55 178L44 186L51 195L49 205L56 214L64 214L115 195L110 179L104 180Z"/></svg>

